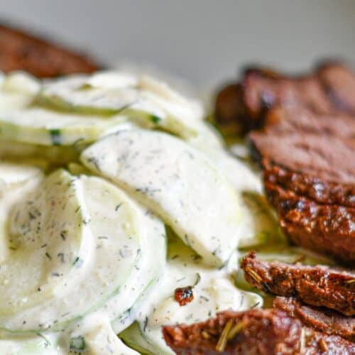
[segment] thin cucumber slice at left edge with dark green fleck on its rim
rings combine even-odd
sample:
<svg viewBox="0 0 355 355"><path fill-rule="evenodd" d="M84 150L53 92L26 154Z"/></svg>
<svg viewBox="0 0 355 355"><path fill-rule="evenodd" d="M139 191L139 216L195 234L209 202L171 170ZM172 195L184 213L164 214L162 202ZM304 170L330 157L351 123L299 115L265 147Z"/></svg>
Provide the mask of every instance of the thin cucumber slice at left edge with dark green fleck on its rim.
<svg viewBox="0 0 355 355"><path fill-rule="evenodd" d="M3 111L0 113L0 137L44 146L70 146L96 141L125 120L123 116L100 119L40 108Z"/></svg>

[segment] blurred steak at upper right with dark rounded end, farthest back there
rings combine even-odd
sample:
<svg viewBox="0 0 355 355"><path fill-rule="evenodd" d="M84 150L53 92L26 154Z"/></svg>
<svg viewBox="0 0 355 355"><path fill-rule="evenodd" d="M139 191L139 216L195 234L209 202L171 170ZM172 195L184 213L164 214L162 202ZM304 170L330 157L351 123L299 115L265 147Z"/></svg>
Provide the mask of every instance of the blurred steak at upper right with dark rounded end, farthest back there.
<svg viewBox="0 0 355 355"><path fill-rule="evenodd" d="M232 87L238 89L231 89ZM273 107L297 107L317 114L355 114L355 75L339 62L328 62L310 75L289 76L267 68L244 71L240 83L217 94L215 117L239 131L261 128Z"/></svg>

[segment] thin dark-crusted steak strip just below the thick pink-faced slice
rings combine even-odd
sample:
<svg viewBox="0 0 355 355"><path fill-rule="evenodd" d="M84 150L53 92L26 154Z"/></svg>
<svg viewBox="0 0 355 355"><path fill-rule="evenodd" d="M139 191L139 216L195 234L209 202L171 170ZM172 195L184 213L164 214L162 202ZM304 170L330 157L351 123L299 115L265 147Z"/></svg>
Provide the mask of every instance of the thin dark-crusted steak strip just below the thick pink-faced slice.
<svg viewBox="0 0 355 355"><path fill-rule="evenodd" d="M267 262L251 252L241 261L244 277L266 293L297 300L317 307L327 307L344 315L355 315L355 274L327 266L290 265Z"/></svg>

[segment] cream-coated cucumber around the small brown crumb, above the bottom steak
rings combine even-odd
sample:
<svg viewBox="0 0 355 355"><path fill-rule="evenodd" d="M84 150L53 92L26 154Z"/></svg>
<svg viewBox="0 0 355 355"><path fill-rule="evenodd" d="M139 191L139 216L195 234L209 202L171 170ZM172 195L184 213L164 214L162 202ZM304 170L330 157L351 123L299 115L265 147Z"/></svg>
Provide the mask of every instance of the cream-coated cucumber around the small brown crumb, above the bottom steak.
<svg viewBox="0 0 355 355"><path fill-rule="evenodd" d="M133 325L119 334L121 339L148 354L173 354L163 339L161 328L165 324L191 324L214 317L222 310L247 310L263 305L256 293L235 288L225 271L209 268L196 254L177 238L169 240L168 266L155 294L145 301L137 317L138 327ZM193 300L181 307L175 301L178 287L190 286Z"/></svg>

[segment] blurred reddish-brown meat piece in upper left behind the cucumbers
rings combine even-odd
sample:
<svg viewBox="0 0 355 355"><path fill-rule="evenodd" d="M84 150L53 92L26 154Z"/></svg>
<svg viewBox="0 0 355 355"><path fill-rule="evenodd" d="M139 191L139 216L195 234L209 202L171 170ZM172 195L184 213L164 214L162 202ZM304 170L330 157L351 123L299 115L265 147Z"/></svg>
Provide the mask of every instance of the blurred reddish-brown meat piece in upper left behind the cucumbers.
<svg viewBox="0 0 355 355"><path fill-rule="evenodd" d="M96 62L35 35L0 25L0 70L26 70L36 77L94 72Z"/></svg>

